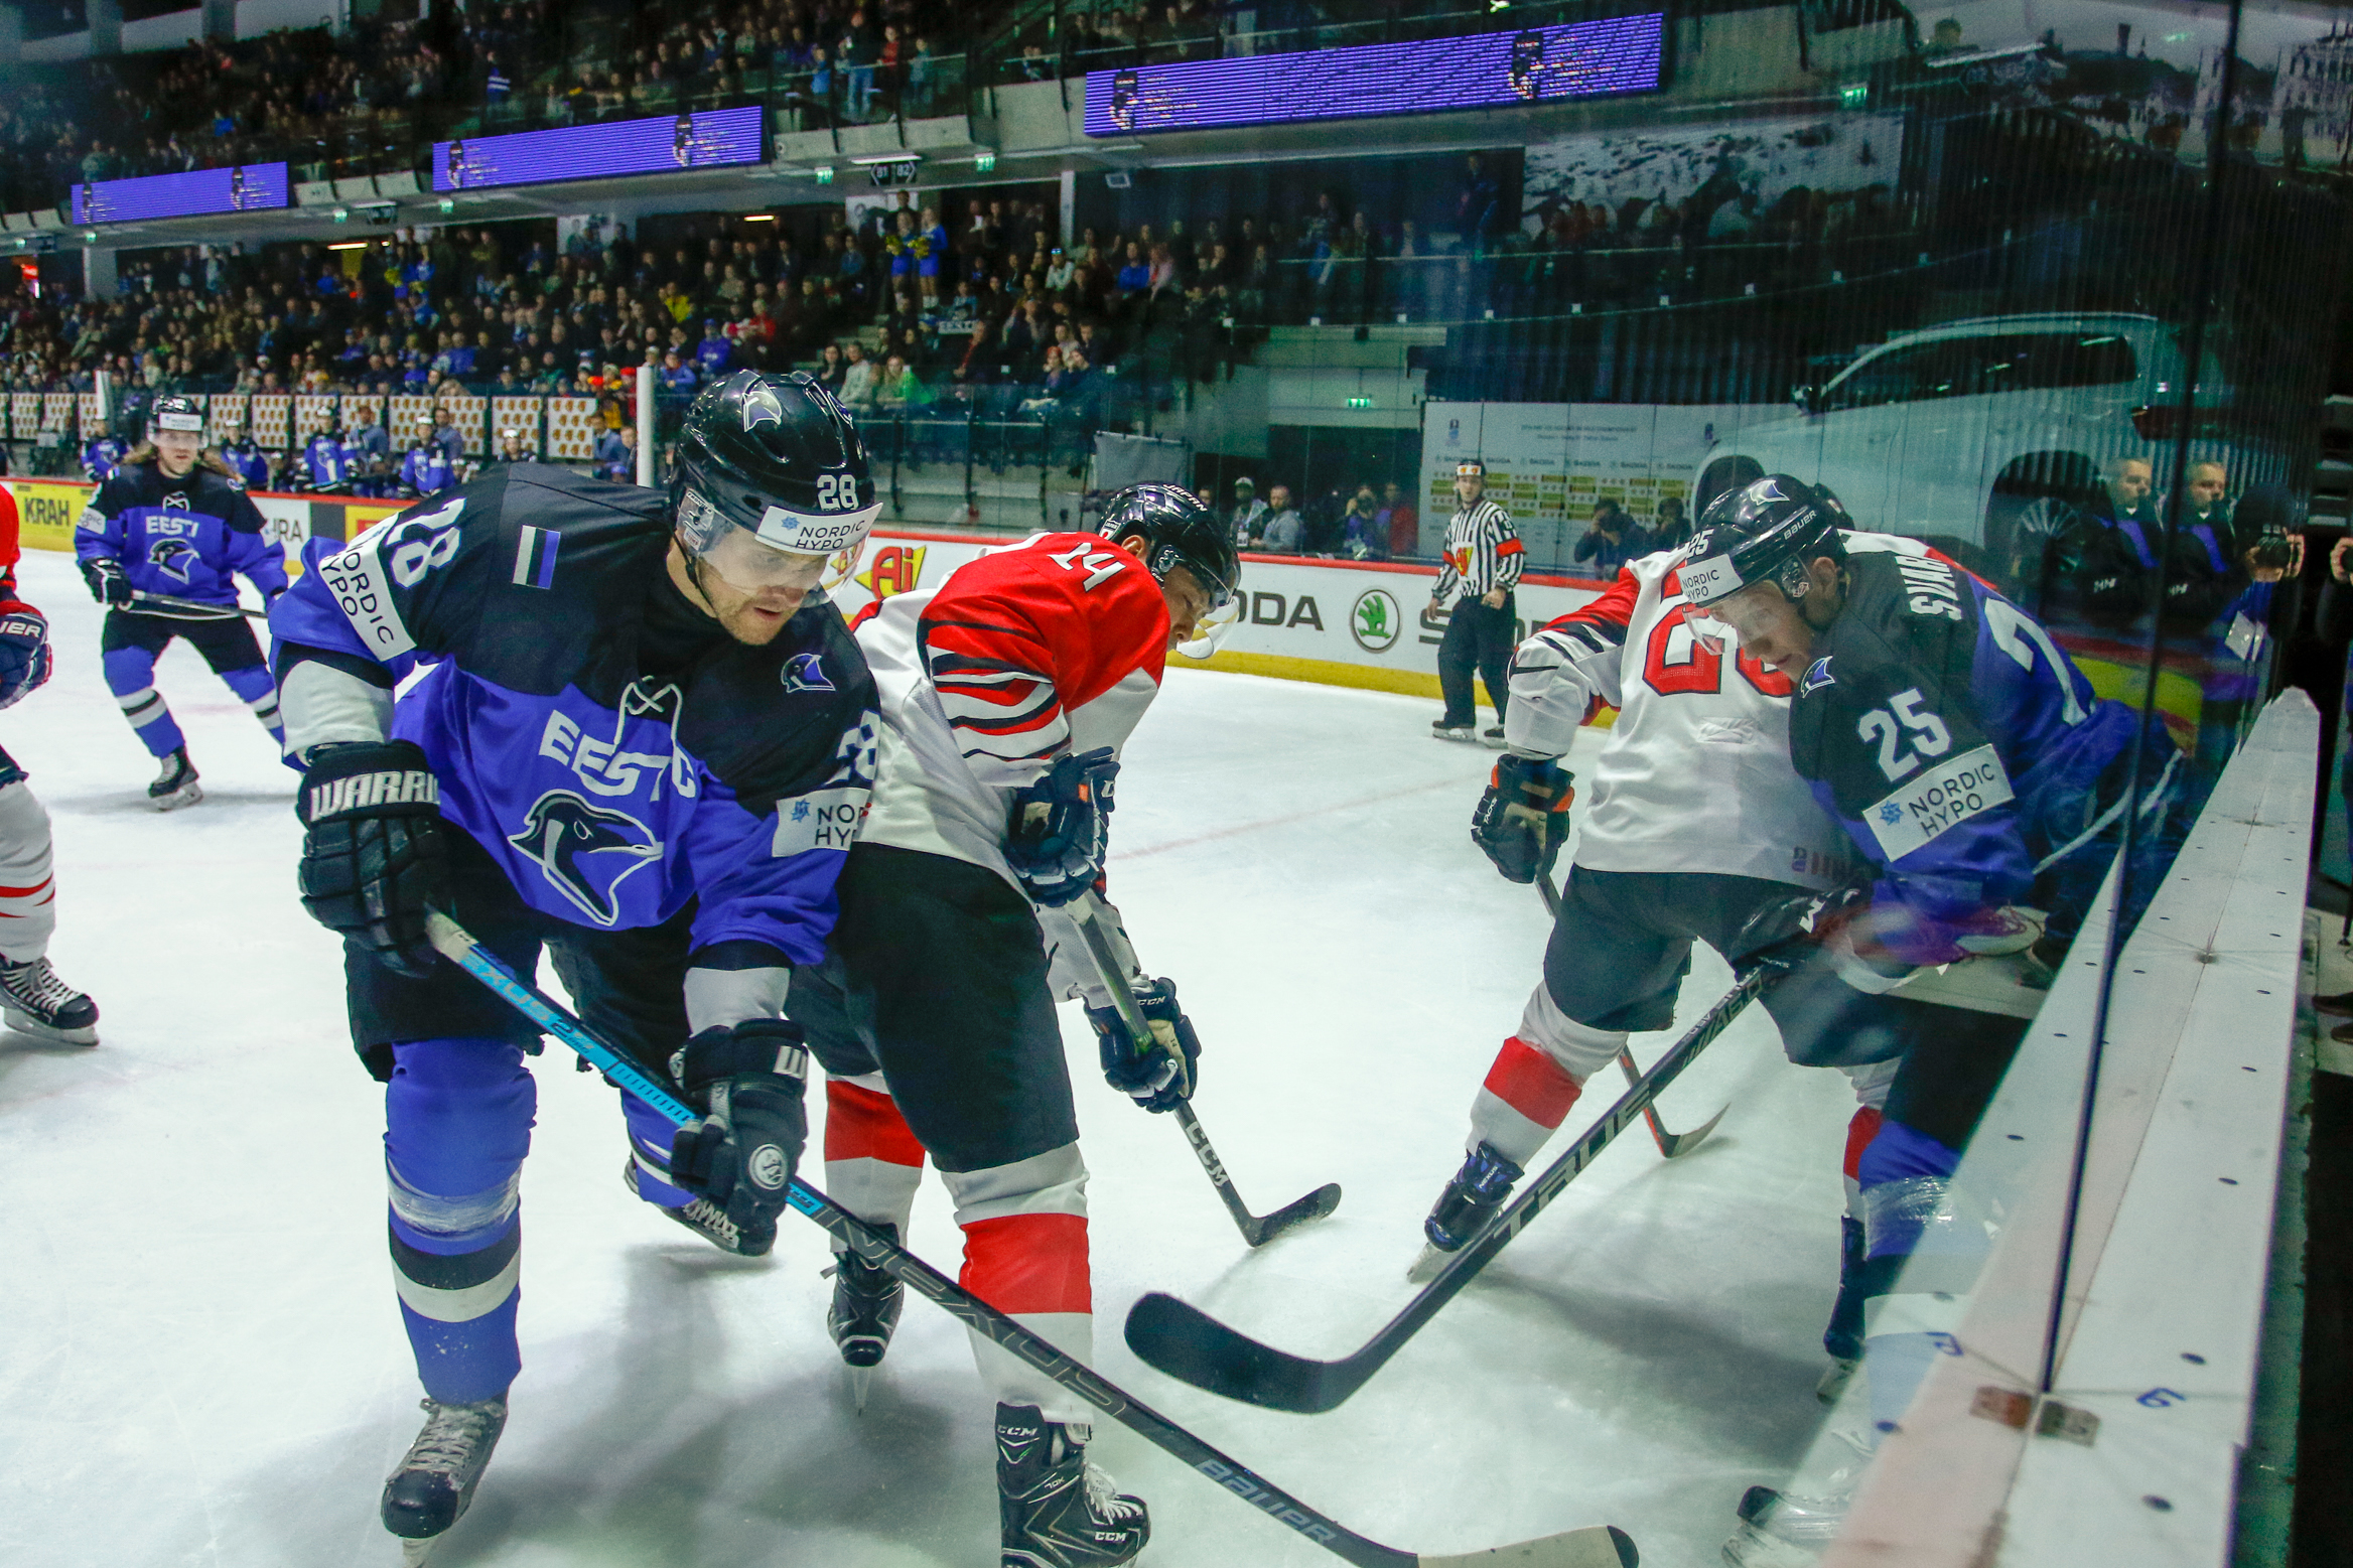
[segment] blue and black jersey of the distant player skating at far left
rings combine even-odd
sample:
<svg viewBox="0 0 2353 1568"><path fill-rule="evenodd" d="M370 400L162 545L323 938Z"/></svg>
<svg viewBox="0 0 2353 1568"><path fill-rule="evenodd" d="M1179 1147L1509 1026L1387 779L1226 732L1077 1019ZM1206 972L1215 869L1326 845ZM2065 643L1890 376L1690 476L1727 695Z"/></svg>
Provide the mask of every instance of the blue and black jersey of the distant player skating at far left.
<svg viewBox="0 0 2353 1568"><path fill-rule="evenodd" d="M235 604L238 576L264 599L287 590L285 550L252 496L202 463L179 480L158 463L118 468L82 510L73 555L113 557L134 590L202 604Z"/></svg>

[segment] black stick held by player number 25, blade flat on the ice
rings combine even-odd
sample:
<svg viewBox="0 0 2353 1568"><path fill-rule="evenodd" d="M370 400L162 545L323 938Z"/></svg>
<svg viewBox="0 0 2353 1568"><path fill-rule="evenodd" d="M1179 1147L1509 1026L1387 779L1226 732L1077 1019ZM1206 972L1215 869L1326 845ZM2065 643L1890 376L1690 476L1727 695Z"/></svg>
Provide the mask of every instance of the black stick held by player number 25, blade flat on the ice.
<svg viewBox="0 0 2353 1568"><path fill-rule="evenodd" d="M1445 1267L1431 1276L1431 1284L1421 1286L1421 1295L1409 1300L1405 1312L1388 1319L1355 1354L1339 1361L1294 1356L1235 1333L1200 1307L1158 1291L1127 1312L1127 1347L1162 1373L1212 1394L1224 1394L1226 1399L1266 1406L1268 1410L1297 1410L1301 1415L1320 1415L1322 1410L1339 1408L1424 1324L1438 1316L1438 1309L1454 1300L1546 1204L1560 1197L1560 1190L1577 1180L1593 1164L1593 1157L1609 1147L1609 1140L1626 1131L1642 1114L1642 1107L1673 1084L1675 1074L1689 1067L1739 1018L1741 1009L1781 973L1784 969L1769 961L1751 969L1722 1001L1708 1009L1706 1018L1692 1025L1689 1034L1659 1058L1659 1065L1649 1074L1638 1079L1584 1138L1546 1166L1544 1175L1527 1185L1527 1192L1513 1199L1504 1213L1494 1215L1459 1253L1440 1253Z"/></svg>

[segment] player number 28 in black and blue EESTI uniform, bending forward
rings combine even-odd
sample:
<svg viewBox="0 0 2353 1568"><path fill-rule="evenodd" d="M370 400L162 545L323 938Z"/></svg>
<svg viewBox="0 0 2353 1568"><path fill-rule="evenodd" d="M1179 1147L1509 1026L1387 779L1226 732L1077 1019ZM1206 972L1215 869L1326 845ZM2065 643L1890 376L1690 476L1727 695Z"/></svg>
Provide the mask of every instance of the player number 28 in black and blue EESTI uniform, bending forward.
<svg viewBox="0 0 2353 1568"><path fill-rule="evenodd" d="M866 449L809 376L729 376L671 489L525 463L313 541L271 618L304 766L304 907L344 936L353 1044L386 1084L391 1251L426 1425L384 1526L473 1497L520 1366L518 1180L536 1034L426 940L447 910L678 1084L624 1095L631 1185L765 1253L807 1135L793 966L873 780L873 679L816 592L873 527ZM400 701L393 686L431 670ZM414 1561L414 1552L412 1552Z"/></svg>

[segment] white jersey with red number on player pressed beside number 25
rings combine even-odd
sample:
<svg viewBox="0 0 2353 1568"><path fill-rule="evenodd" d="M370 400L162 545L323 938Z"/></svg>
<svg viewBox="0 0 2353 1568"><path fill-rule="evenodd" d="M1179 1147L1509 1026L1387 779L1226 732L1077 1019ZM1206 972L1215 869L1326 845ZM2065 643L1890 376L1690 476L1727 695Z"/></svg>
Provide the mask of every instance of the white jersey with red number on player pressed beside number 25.
<svg viewBox="0 0 2353 1568"><path fill-rule="evenodd" d="M1567 757L1595 708L1619 710L1577 766L1577 865L1598 872L1725 872L1831 889L1852 846L1788 762L1791 679L1682 621L1680 550L1626 562L1579 611L1511 658L1504 741Z"/></svg>

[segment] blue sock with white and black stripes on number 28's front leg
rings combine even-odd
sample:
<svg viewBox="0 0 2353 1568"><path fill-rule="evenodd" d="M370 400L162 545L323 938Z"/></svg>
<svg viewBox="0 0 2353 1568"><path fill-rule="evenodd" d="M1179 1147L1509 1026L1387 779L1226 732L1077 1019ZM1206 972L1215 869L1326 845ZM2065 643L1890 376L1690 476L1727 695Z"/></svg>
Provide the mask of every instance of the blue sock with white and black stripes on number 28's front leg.
<svg viewBox="0 0 2353 1568"><path fill-rule="evenodd" d="M393 1286L438 1403L504 1399L522 1368L520 1175L536 1086L522 1048L494 1039L393 1046L384 1093Z"/></svg>

